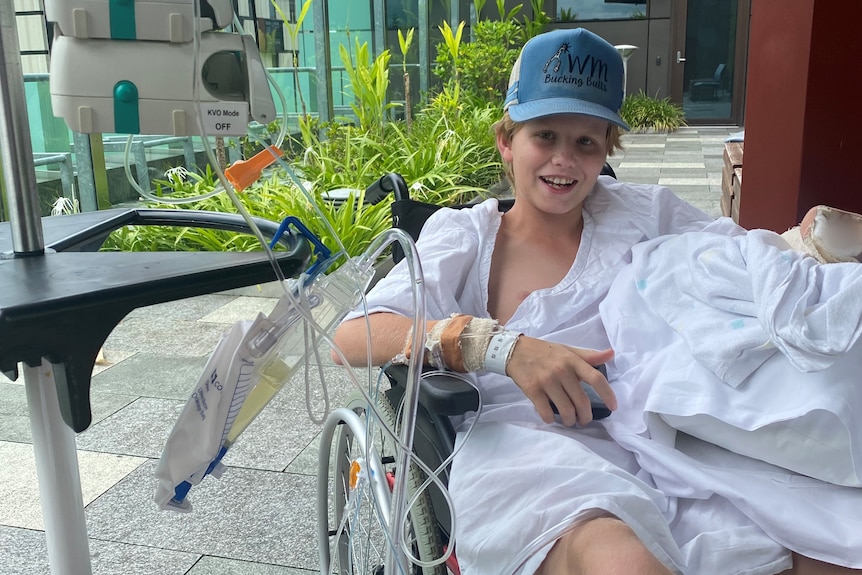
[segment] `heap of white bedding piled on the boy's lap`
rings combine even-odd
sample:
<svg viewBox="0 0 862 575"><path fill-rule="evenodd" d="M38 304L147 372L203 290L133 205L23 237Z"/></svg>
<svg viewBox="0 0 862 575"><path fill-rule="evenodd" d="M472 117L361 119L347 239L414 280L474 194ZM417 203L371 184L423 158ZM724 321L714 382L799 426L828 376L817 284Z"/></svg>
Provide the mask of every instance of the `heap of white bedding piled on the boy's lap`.
<svg viewBox="0 0 862 575"><path fill-rule="evenodd" d="M862 265L771 232L635 247L601 306L625 406L605 427L666 496L721 496L782 545L862 567L860 294Z"/></svg>

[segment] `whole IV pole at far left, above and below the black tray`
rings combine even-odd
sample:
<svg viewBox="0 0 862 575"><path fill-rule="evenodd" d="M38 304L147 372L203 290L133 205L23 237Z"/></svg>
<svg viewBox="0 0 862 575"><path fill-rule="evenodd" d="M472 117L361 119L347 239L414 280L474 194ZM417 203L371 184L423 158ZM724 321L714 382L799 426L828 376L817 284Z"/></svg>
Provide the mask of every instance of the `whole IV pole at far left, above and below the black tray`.
<svg viewBox="0 0 862 575"><path fill-rule="evenodd" d="M11 257L40 258L45 247L12 0L0 0L0 59L0 163L12 231ZM0 259L7 257L0 254ZM44 358L41 365L25 364L24 383L51 573L89 575L75 434L60 414L54 381L54 371L62 367Z"/></svg>

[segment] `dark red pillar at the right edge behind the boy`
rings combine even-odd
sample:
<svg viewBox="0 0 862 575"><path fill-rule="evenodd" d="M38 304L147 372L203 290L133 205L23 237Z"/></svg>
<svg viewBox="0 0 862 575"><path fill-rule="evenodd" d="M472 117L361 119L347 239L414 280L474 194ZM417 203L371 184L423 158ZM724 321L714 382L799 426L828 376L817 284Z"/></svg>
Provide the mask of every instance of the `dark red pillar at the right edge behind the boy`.
<svg viewBox="0 0 862 575"><path fill-rule="evenodd" d="M753 0L739 222L862 212L862 2Z"/></svg>

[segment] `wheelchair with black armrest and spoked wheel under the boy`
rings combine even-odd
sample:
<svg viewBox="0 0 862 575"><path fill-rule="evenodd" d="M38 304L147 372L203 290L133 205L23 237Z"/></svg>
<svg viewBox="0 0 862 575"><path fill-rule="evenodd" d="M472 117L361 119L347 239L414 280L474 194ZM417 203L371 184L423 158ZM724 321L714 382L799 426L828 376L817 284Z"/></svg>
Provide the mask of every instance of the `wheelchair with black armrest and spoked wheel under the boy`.
<svg viewBox="0 0 862 575"><path fill-rule="evenodd" d="M616 177L605 164L602 174ZM425 220L440 206L412 200L404 179L387 174L369 187L366 197L380 201L393 193L393 226L416 240ZM500 209L512 207L513 199L501 199ZM455 206L469 207L469 204ZM392 246L395 263L403 258L400 246ZM395 441L382 426L395 430L397 414L406 393L406 365L388 365L381 380L386 389L372 392L376 416L366 399L354 392L347 404L327 418L321 435L318 459L318 545L321 574L382 575L388 554L391 490L396 478ZM440 372L423 374L418 390L413 453L429 469L438 470L448 485L450 465L443 466L454 451L455 429L450 417L479 408L478 391L469 383ZM601 415L594 414L598 417ZM380 421L377 420L379 417ZM411 575L460 575L454 553L445 563L431 564L443 557L452 533L452 516L447 500L416 465L406 473L407 530L404 535L413 558ZM418 493L421 488L421 492Z"/></svg>

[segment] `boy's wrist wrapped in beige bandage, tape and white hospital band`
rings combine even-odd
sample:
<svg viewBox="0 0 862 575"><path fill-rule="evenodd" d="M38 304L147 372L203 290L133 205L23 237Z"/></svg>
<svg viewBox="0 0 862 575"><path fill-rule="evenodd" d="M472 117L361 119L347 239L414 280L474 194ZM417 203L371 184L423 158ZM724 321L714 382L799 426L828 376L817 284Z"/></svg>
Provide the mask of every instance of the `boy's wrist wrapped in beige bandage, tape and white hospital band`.
<svg viewBox="0 0 862 575"><path fill-rule="evenodd" d="M506 364L520 337L495 319L453 314L438 321L425 339L426 364L460 373L490 371L506 375ZM393 361L409 359L412 334Z"/></svg>

